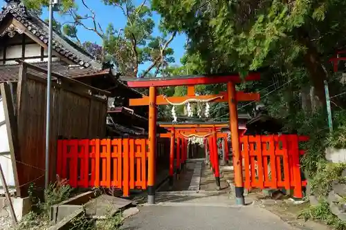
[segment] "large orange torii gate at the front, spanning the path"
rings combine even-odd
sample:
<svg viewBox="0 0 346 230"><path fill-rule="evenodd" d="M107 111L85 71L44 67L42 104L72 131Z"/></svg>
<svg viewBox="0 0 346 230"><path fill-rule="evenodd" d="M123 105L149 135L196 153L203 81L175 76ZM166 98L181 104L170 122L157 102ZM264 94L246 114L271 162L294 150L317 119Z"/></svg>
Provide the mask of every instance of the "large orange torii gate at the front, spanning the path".
<svg viewBox="0 0 346 230"><path fill-rule="evenodd" d="M129 106L149 106L149 154L148 154L148 181L147 181L147 202L155 204L155 161L156 161L156 118L158 105L184 104L189 100L211 100L211 102L228 102L230 111L230 131L232 133L233 164L235 171L235 195L237 204L245 204L244 183L242 175L242 161L239 149L238 133L238 101L260 100L259 93L244 93L235 90L235 84L243 81L259 80L260 73L251 73L244 79L238 74L234 75L190 75L176 77L156 77L156 78L136 78L122 77L121 80L127 82L131 88L149 88L149 97L144 96L138 99L129 99ZM201 84L227 84L227 92L218 95L196 95L195 85ZM156 95L156 88L167 86L188 86L188 94L182 97L165 97ZM172 143L171 143L172 144Z"/></svg>

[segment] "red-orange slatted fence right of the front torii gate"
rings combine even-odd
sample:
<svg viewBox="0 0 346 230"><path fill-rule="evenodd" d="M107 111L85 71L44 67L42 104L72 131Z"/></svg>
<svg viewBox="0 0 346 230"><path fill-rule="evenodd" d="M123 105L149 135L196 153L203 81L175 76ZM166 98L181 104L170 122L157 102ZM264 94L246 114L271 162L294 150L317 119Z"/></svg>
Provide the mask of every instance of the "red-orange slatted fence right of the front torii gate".
<svg viewBox="0 0 346 230"><path fill-rule="evenodd" d="M244 187L246 189L293 189L293 195L302 198L299 142L308 137L298 135L242 136Z"/></svg>

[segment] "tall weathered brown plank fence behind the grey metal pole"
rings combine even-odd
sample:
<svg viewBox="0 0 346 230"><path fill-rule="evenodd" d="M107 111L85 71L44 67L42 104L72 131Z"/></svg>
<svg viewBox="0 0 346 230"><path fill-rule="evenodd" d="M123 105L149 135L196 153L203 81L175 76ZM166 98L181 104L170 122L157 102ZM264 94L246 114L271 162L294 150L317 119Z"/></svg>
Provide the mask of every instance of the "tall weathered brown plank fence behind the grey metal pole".
<svg viewBox="0 0 346 230"><path fill-rule="evenodd" d="M21 196L27 194L31 182L44 186L46 73L42 68L21 62L17 95L13 97L16 111L10 119L17 121L17 127L11 127L17 141L11 151L17 162L15 173L20 188L17 186L17 194ZM49 173L51 180L55 180L58 137L105 136L108 92L56 73L52 77Z"/></svg>

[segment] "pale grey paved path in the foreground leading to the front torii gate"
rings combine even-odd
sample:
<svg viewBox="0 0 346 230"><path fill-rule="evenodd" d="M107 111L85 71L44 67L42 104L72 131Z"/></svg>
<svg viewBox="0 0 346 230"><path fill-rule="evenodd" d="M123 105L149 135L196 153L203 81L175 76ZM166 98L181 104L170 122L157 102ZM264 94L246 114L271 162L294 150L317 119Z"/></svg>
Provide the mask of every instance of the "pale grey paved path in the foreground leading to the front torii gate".
<svg viewBox="0 0 346 230"><path fill-rule="evenodd" d="M165 196L165 199L163 198ZM160 195L162 202L139 207L139 213L125 221L123 230L293 230L270 211L248 205L239 207L227 194ZM163 201L166 200L166 201Z"/></svg>

